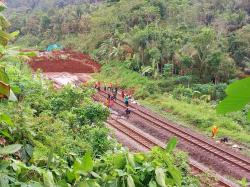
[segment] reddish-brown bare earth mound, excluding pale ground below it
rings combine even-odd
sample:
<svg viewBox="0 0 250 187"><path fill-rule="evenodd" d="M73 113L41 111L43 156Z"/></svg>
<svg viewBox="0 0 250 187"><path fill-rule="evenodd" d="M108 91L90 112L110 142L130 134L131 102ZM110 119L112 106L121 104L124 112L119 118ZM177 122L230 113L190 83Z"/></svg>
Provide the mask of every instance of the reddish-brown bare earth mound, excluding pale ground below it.
<svg viewBox="0 0 250 187"><path fill-rule="evenodd" d="M70 50L39 52L28 62L33 70L43 72L95 73L100 65L89 55Z"/></svg>

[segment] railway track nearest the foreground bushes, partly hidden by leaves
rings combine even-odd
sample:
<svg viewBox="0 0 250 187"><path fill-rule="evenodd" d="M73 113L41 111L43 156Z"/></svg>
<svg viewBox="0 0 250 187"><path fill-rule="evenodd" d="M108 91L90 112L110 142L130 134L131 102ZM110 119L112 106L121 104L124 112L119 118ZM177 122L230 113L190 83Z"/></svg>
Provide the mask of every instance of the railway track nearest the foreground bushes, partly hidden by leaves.
<svg viewBox="0 0 250 187"><path fill-rule="evenodd" d="M139 145L141 145L144 150L150 150L154 146L159 146L161 148L165 148L165 144L157 140L156 138L144 133L140 129L134 127L133 125L129 125L128 123L117 120L114 117L110 117L107 121L109 126L128 138L132 139L133 141L137 142ZM140 151L140 150L139 150ZM205 173L209 172L207 168L201 168L199 165L197 165L197 162L194 160L190 160L190 167L193 172L197 173ZM216 180L213 181L212 184L209 184L209 186L213 187L239 187L237 184L232 183L231 181L216 175Z"/></svg>

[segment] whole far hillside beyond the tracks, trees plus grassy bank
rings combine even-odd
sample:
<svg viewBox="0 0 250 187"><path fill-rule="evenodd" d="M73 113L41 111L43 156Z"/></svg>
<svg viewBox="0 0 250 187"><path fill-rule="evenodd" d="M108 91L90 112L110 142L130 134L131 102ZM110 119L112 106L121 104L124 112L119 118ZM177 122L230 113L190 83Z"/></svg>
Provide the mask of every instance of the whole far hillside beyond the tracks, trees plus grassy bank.
<svg viewBox="0 0 250 187"><path fill-rule="evenodd" d="M136 98L170 108L206 133L217 124L220 136L249 142L249 106L226 118L213 109L227 84L249 71L248 0L50 2L30 11L11 9L10 30L21 32L16 44L44 49L57 42L90 53L104 66L100 80L116 80L134 89ZM163 94L168 96L157 97ZM180 107L187 105L190 110ZM196 106L204 111L194 112Z"/></svg>

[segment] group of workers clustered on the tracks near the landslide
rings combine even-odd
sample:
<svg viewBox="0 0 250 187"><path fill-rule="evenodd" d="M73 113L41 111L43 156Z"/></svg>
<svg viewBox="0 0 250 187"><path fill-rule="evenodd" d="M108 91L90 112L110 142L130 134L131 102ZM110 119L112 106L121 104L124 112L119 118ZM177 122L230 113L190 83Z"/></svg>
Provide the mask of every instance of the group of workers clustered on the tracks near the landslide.
<svg viewBox="0 0 250 187"><path fill-rule="evenodd" d="M96 82L94 87L98 91L101 91L101 83L100 82ZM117 86L117 84L113 85L112 83L109 83L109 84L105 83L103 85L103 89L105 92L107 92L107 91L109 92L108 96L106 98L106 101L105 101L105 105L108 108L112 108L114 106L115 100L117 99L118 86ZM129 118L129 115L131 113L131 109L129 108L129 100L130 100L131 96L126 94L124 90L121 90L121 97L123 98L124 104L126 106L125 116L127 118Z"/></svg>

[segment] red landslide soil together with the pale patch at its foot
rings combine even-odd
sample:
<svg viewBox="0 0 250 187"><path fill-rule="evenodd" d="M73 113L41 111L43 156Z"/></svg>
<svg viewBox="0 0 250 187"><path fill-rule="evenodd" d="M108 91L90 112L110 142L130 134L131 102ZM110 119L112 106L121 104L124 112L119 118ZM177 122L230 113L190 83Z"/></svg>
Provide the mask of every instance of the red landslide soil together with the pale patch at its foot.
<svg viewBox="0 0 250 187"><path fill-rule="evenodd" d="M28 64L34 71L42 71L56 87L87 82L91 73L98 72L101 67L89 55L71 50L40 51Z"/></svg>

